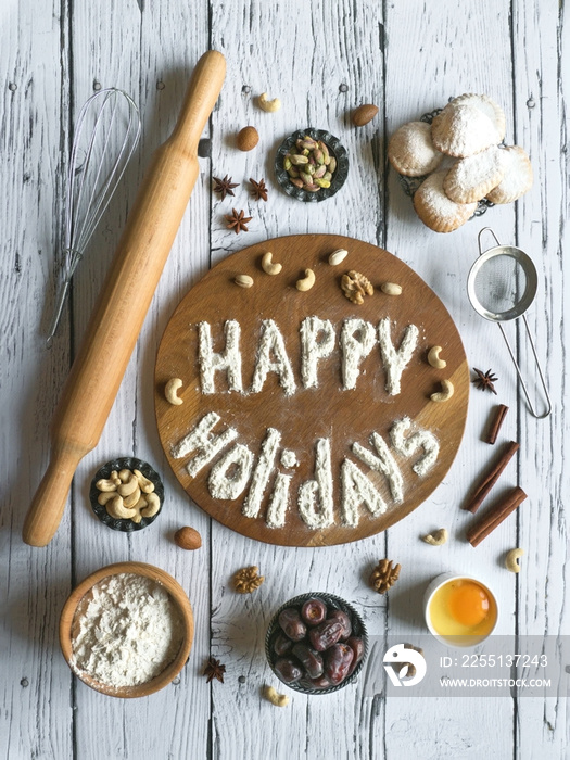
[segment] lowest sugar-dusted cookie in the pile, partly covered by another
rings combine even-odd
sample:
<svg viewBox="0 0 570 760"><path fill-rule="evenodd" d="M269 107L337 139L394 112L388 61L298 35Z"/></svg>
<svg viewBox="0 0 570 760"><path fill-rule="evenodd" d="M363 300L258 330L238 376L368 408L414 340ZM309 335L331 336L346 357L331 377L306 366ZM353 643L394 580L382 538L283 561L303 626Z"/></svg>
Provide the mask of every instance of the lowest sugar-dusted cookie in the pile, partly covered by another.
<svg viewBox="0 0 570 760"><path fill-rule="evenodd" d="M414 208L423 224L434 232L453 232L469 219L477 203L455 203L443 191L447 172L434 172L423 180L414 195Z"/></svg>

